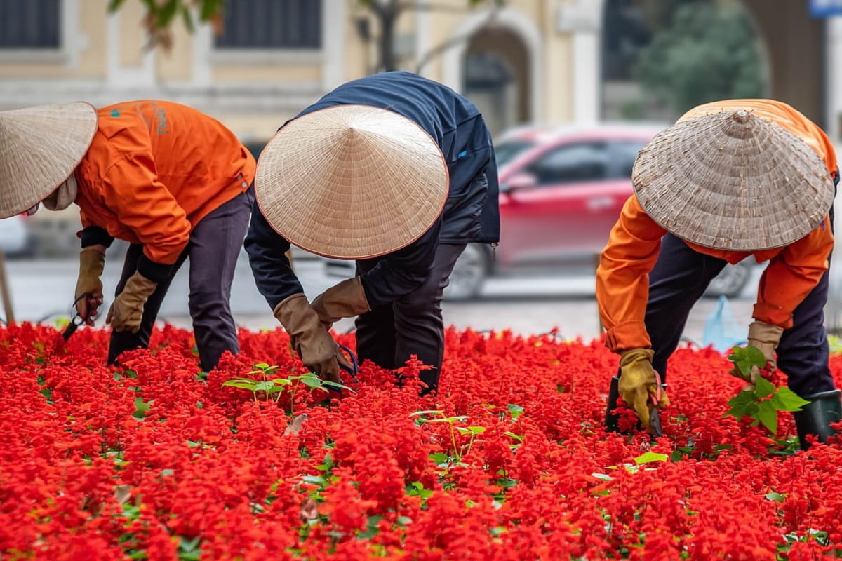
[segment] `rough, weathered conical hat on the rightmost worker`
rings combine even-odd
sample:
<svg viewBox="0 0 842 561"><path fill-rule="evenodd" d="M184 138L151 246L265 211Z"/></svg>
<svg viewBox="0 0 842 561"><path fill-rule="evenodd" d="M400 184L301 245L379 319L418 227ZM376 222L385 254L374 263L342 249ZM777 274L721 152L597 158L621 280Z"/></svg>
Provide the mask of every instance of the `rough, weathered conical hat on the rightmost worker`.
<svg viewBox="0 0 842 561"><path fill-rule="evenodd" d="M834 200L821 156L748 110L661 131L638 154L632 184L664 230L730 251L791 244L822 223Z"/></svg>

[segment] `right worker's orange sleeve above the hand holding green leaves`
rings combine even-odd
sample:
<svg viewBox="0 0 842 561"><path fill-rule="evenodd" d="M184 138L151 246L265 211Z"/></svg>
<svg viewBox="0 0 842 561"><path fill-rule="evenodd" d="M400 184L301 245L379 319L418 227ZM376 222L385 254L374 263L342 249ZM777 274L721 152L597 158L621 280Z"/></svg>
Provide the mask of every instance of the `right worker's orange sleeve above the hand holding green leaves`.
<svg viewBox="0 0 842 561"><path fill-rule="evenodd" d="M789 329L792 311L828 270L833 246L830 219L825 218L822 225L773 257L760 277L754 319Z"/></svg>

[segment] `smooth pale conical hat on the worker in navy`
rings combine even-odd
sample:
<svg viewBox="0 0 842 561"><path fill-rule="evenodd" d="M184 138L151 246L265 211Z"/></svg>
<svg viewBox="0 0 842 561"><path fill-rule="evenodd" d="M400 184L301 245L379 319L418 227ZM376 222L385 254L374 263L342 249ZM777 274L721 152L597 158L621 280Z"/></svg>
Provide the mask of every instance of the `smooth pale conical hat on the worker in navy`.
<svg viewBox="0 0 842 561"><path fill-rule="evenodd" d="M266 220L291 243L365 259L429 230L449 178L439 146L412 120L338 105L285 124L260 154L254 188Z"/></svg>

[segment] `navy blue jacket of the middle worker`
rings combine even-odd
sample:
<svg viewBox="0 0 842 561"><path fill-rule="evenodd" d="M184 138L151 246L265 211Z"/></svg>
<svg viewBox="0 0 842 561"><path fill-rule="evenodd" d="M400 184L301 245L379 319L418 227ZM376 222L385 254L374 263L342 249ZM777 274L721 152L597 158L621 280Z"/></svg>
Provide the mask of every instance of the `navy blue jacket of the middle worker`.
<svg viewBox="0 0 842 561"><path fill-rule="evenodd" d="M427 131L445 156L450 191L439 219L412 244L386 256L361 280L372 308L418 288L433 267L440 243L496 243L500 236L497 163L491 135L473 103L410 72L383 72L337 87L301 115L335 105L371 105L402 114ZM289 121L287 121L289 122ZM257 204L246 236L255 282L274 309L287 296L303 292L284 256L290 242L275 232Z"/></svg>

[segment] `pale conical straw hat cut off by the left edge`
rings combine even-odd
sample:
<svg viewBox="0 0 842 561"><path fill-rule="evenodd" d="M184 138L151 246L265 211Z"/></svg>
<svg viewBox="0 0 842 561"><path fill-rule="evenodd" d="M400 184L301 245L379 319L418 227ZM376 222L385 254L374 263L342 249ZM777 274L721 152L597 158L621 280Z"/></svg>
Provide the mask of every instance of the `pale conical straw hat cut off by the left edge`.
<svg viewBox="0 0 842 561"><path fill-rule="evenodd" d="M0 218L31 209L76 169L97 130L90 103L0 111Z"/></svg>

